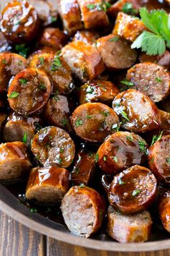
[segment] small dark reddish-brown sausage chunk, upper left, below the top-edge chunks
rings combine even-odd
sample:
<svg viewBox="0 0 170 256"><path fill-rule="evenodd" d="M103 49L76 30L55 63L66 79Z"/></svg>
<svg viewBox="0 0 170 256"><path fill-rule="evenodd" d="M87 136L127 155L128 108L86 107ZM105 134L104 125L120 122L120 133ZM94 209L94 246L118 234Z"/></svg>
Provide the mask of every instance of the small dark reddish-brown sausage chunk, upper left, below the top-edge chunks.
<svg viewBox="0 0 170 256"><path fill-rule="evenodd" d="M42 31L38 43L40 46L48 46L54 48L55 51L59 51L66 45L67 41L68 36L58 27L46 27L45 30Z"/></svg>

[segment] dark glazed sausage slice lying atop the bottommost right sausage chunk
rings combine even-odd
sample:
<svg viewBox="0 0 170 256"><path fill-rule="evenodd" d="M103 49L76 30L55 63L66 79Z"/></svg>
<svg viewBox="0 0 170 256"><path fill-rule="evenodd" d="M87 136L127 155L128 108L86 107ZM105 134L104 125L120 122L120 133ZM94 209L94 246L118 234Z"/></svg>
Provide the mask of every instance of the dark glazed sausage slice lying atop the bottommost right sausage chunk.
<svg viewBox="0 0 170 256"><path fill-rule="evenodd" d="M109 187L110 205L124 214L140 213L155 200L156 178L143 166L132 166L117 174Z"/></svg>

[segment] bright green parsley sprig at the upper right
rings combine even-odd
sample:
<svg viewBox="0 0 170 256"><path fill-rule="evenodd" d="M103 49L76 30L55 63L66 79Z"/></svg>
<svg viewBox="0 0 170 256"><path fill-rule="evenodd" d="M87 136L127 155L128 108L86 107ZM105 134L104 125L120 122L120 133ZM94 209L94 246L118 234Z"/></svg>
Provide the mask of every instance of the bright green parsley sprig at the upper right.
<svg viewBox="0 0 170 256"><path fill-rule="evenodd" d="M163 9L140 8L140 17L150 31L143 31L131 48L141 48L148 55L162 55L170 48L170 16Z"/></svg>

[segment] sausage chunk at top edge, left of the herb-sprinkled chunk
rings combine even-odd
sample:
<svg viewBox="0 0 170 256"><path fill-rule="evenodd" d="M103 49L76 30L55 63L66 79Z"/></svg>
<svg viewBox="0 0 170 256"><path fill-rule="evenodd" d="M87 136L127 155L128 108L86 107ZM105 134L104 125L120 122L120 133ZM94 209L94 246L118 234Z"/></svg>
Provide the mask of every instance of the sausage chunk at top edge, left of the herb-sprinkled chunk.
<svg viewBox="0 0 170 256"><path fill-rule="evenodd" d="M63 28L70 35L81 30L84 26L81 22L81 12L76 0L57 0L58 12L63 22Z"/></svg>

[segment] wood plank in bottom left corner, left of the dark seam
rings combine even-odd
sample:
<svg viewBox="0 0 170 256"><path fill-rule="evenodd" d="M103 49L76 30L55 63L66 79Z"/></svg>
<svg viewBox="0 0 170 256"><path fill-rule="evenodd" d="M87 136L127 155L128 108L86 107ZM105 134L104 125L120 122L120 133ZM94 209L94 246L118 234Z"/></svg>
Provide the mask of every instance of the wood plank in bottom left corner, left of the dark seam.
<svg viewBox="0 0 170 256"><path fill-rule="evenodd" d="M45 256L46 237L0 212L1 256Z"/></svg>

